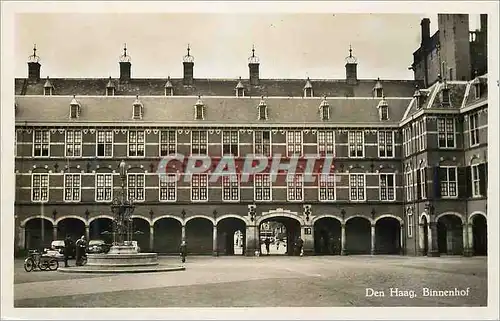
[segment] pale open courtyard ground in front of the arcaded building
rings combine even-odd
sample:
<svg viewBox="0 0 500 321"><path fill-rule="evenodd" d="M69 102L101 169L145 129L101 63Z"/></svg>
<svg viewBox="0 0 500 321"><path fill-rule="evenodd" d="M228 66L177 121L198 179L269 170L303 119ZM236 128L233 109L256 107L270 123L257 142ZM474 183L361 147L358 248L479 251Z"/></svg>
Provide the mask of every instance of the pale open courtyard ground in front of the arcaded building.
<svg viewBox="0 0 500 321"><path fill-rule="evenodd" d="M161 258L179 264L177 258ZM26 273L15 261L15 307L486 306L484 257L189 257L186 271ZM385 296L367 296L367 289ZM415 297L391 296L391 288ZM423 296L423 289L468 290ZM370 291L370 290L368 290ZM394 290L393 290L394 294ZM404 294L404 293L401 293Z"/></svg>

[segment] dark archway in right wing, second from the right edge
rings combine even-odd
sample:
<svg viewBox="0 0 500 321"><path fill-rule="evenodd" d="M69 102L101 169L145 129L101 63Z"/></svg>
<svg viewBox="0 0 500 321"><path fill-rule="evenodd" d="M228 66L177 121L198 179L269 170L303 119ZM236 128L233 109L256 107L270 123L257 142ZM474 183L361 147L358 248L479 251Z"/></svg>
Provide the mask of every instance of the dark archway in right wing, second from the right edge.
<svg viewBox="0 0 500 321"><path fill-rule="evenodd" d="M437 220L439 253L463 254L462 220L454 214L440 215Z"/></svg>

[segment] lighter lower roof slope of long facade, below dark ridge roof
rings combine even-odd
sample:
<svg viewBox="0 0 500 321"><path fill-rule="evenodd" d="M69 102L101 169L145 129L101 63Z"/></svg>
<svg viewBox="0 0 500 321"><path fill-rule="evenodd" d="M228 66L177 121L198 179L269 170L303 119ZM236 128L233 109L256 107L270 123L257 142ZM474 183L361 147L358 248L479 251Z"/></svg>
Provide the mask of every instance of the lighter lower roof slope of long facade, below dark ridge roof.
<svg viewBox="0 0 500 321"><path fill-rule="evenodd" d="M155 123L181 125L210 124L349 124L395 125L402 119L411 98L386 98L389 121L381 121L379 98L328 98L330 120L322 121L319 106L323 98L264 98L268 120L257 119L260 97L202 97L205 120L194 120L197 97L140 96L143 119L132 119L135 96L77 96L81 106L78 119L69 119L73 96L17 96L17 122L43 123Z"/></svg>

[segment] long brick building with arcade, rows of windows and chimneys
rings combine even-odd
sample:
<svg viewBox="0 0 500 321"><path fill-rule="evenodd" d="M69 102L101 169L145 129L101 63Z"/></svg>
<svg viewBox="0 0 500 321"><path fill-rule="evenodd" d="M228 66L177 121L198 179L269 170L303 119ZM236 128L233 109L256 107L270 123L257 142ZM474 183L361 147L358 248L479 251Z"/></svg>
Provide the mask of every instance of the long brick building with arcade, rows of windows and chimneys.
<svg viewBox="0 0 500 321"><path fill-rule="evenodd" d="M457 18L440 15L439 32L457 30L446 19ZM461 37L451 39L469 52ZM137 79L125 49L119 79L55 79L34 51L15 79L17 249L106 237L125 160L144 251L176 253L186 238L191 253L231 255L238 232L252 255L261 224L275 221L306 254L486 253L486 71L363 80L352 49L337 80L261 79L253 50L248 79L195 78L189 48L183 65L182 78ZM333 155L334 168L315 182L300 171L161 178L172 153Z"/></svg>

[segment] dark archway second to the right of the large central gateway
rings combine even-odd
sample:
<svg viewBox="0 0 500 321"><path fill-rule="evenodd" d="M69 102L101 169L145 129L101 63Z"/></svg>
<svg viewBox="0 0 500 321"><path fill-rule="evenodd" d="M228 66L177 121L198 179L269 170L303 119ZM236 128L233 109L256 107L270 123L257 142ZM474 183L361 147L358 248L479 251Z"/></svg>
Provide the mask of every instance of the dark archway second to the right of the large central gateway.
<svg viewBox="0 0 500 321"><path fill-rule="evenodd" d="M370 254L371 222L365 217L353 217L345 224L346 251L348 254Z"/></svg>

